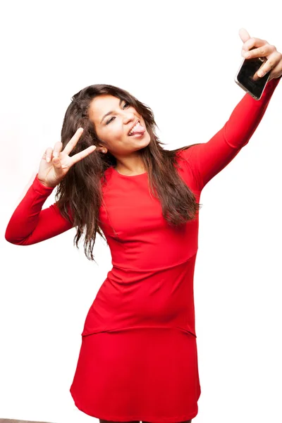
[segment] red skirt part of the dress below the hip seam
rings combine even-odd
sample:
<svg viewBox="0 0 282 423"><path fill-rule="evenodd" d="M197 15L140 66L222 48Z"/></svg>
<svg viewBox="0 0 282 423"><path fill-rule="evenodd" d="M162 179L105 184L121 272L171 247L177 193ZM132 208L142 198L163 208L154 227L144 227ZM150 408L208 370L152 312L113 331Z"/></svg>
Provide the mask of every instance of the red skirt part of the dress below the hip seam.
<svg viewBox="0 0 282 423"><path fill-rule="evenodd" d="M196 336L169 326L82 336L70 391L76 407L97 419L192 419L200 397Z"/></svg>

